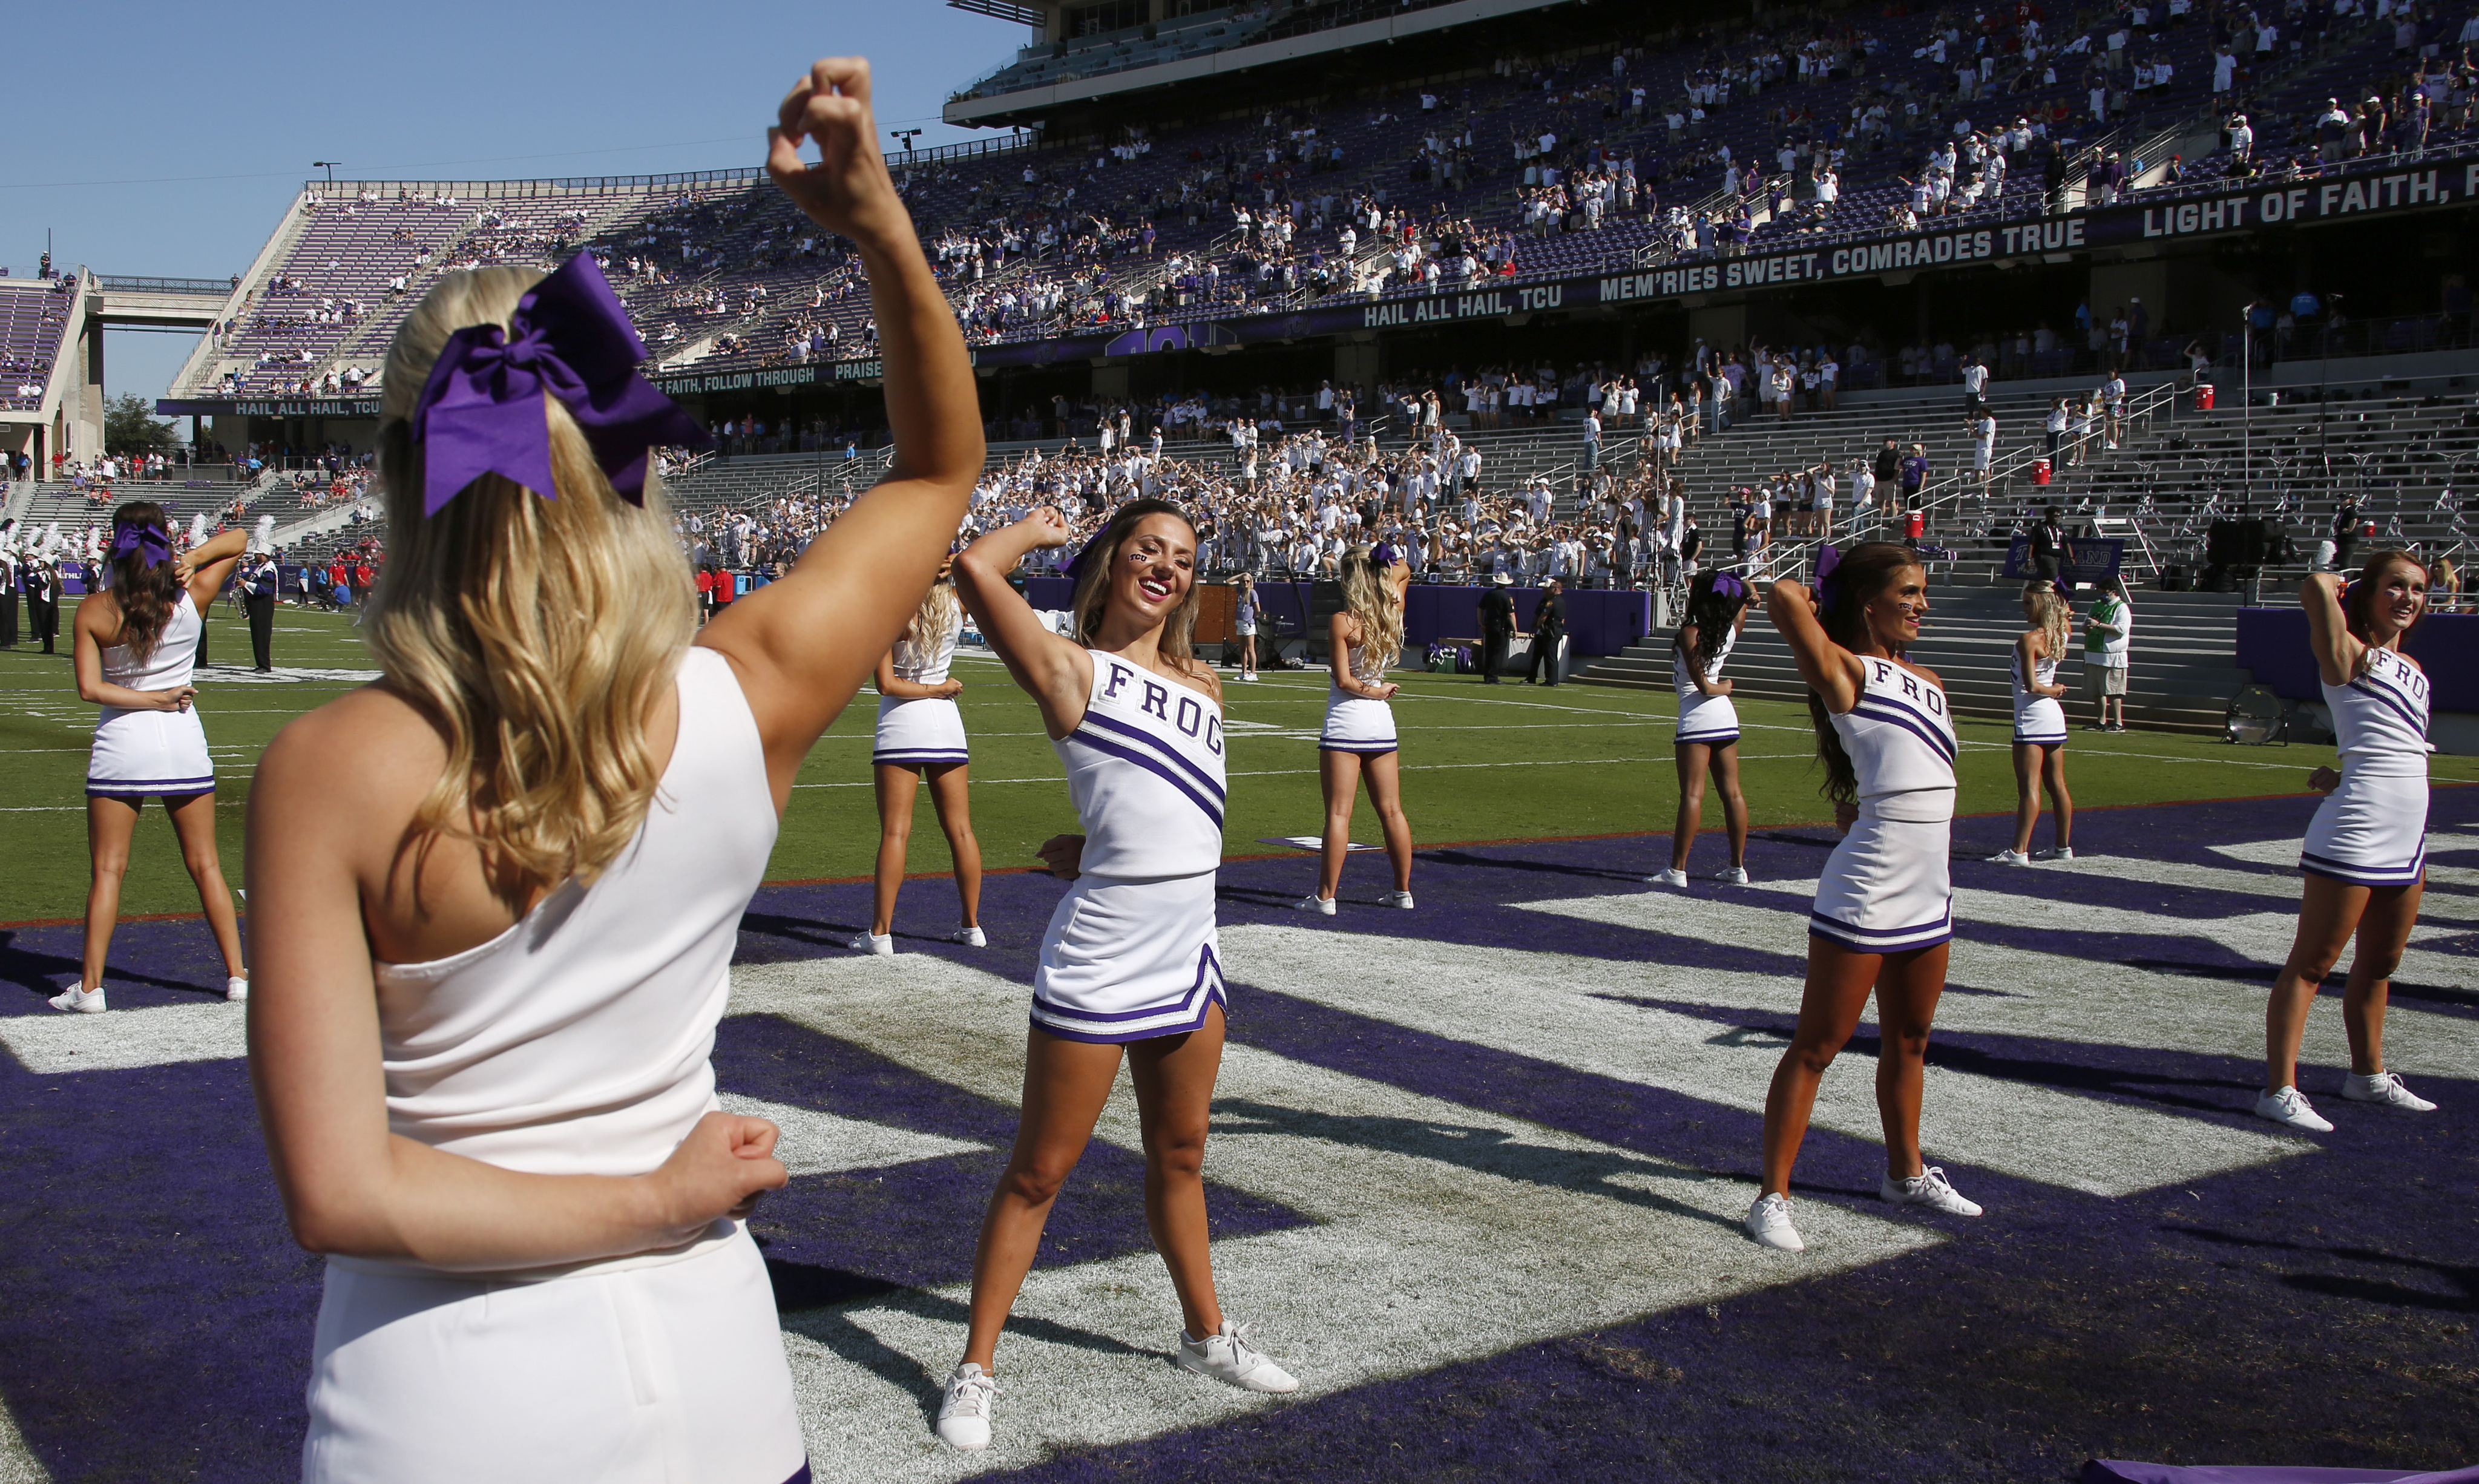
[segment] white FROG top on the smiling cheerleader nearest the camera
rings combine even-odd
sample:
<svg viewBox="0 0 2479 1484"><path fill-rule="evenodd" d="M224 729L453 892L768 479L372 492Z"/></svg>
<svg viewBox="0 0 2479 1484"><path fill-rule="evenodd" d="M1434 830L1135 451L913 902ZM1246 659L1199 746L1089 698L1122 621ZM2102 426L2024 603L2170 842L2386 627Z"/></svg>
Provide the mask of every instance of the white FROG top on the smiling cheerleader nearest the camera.
<svg viewBox="0 0 2479 1484"><path fill-rule="evenodd" d="M1081 870L1113 879L1192 877L1222 865L1222 706L1088 649L1093 691L1051 743L1083 823Z"/></svg>

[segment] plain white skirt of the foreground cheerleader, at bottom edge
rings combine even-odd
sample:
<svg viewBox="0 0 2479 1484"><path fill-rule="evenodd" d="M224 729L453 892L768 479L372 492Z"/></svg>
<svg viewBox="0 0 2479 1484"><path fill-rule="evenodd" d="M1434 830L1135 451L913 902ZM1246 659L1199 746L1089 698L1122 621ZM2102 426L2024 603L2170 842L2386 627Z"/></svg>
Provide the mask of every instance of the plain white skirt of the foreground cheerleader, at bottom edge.
<svg viewBox="0 0 2479 1484"><path fill-rule="evenodd" d="M540 1281L332 1259L305 1484L788 1484L808 1477L749 1229Z"/></svg>

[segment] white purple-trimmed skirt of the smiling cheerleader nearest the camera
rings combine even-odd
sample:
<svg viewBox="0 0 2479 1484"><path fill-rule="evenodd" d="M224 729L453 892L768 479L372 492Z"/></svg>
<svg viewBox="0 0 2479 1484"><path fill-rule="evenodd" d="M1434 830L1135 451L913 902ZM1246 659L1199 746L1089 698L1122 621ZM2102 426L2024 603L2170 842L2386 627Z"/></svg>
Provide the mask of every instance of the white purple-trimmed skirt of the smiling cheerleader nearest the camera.
<svg viewBox="0 0 2479 1484"><path fill-rule="evenodd" d="M1230 1006L1215 872L1125 882L1081 875L1051 912L1034 969L1034 1026L1068 1041L1150 1041Z"/></svg>

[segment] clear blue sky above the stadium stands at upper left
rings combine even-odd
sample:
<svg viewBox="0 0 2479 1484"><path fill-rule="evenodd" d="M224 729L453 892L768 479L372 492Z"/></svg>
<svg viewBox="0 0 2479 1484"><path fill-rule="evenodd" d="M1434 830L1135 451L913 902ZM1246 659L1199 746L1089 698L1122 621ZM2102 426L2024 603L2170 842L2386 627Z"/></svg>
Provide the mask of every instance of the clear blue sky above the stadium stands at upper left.
<svg viewBox="0 0 2479 1484"><path fill-rule="evenodd" d="M711 171L764 161L776 99L858 52L920 146L1029 32L942 0L826 5L30 5L10 22L0 263L226 277L315 159L337 178ZM883 141L885 144L885 141ZM161 396L188 334L112 332L104 384Z"/></svg>

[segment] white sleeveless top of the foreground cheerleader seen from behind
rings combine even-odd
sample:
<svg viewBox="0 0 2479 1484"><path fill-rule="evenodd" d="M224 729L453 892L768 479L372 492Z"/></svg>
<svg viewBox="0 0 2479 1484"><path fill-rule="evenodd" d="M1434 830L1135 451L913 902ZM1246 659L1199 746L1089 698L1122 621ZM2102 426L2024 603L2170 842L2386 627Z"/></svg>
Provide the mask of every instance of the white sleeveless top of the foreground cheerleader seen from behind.
<svg viewBox="0 0 2479 1484"><path fill-rule="evenodd" d="M776 840L731 664L679 661L679 741L627 850L488 944L374 964L387 1125L531 1174L645 1174L714 1100L741 909Z"/></svg>

